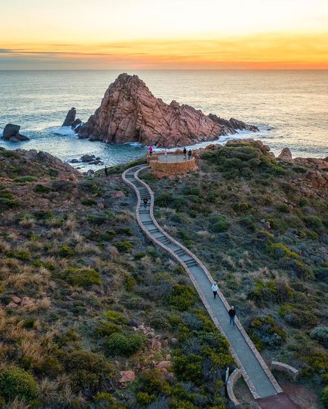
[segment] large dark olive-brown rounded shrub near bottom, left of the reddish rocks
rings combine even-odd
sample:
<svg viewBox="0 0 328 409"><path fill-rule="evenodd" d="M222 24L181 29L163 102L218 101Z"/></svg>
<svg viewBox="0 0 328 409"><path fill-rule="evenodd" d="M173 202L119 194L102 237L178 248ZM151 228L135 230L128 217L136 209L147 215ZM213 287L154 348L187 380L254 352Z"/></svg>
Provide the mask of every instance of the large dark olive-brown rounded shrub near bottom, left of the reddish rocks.
<svg viewBox="0 0 328 409"><path fill-rule="evenodd" d="M66 356L64 366L70 374L73 389L89 394L105 388L116 374L104 355L94 352L73 351Z"/></svg>

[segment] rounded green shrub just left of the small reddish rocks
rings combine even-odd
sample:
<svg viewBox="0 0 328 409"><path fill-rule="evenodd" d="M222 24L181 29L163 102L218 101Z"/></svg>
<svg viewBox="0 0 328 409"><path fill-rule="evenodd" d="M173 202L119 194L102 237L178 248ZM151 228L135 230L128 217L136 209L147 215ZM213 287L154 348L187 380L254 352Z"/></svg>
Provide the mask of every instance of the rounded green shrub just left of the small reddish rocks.
<svg viewBox="0 0 328 409"><path fill-rule="evenodd" d="M132 355L143 348L145 341L139 334L111 334L104 341L104 350L109 355Z"/></svg>

